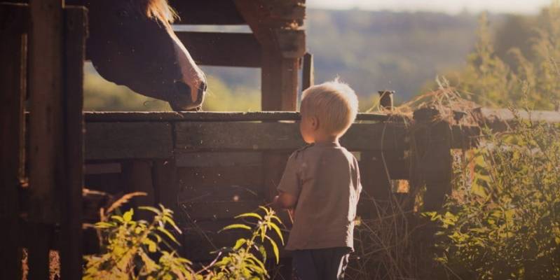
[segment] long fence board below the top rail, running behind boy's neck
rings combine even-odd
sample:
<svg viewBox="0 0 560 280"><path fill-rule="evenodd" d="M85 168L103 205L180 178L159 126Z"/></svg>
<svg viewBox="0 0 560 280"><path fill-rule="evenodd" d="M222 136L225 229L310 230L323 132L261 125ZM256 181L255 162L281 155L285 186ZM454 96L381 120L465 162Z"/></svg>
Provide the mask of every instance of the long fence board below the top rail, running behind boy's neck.
<svg viewBox="0 0 560 280"><path fill-rule="evenodd" d="M175 148L179 150L281 151L304 146L295 123L176 123L175 126ZM406 140L405 127L375 123L354 124L341 143L352 151L389 151L406 148Z"/></svg>

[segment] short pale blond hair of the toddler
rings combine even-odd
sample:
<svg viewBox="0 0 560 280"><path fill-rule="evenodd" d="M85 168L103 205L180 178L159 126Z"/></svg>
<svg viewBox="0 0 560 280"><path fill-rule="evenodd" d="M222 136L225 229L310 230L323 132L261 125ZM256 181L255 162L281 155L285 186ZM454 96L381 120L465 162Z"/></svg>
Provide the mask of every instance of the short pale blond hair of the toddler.
<svg viewBox="0 0 560 280"><path fill-rule="evenodd" d="M356 93L338 79L309 87L302 95L302 117L314 116L329 134L341 136L356 119Z"/></svg>

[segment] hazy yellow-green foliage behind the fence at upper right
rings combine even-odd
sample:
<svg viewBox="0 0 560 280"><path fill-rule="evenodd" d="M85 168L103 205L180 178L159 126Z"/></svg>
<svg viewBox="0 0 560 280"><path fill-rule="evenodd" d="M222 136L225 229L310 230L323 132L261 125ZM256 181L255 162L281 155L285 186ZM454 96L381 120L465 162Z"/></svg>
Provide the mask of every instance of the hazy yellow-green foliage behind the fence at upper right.
<svg viewBox="0 0 560 280"><path fill-rule="evenodd" d="M532 35L517 39L517 45L498 55L489 22L482 15L477 44L467 57L467 66L446 75L451 84L482 106L520 106L528 102L535 109L554 109L560 101L559 1L543 9L536 20L522 22L530 25L526 29L531 29Z"/></svg>

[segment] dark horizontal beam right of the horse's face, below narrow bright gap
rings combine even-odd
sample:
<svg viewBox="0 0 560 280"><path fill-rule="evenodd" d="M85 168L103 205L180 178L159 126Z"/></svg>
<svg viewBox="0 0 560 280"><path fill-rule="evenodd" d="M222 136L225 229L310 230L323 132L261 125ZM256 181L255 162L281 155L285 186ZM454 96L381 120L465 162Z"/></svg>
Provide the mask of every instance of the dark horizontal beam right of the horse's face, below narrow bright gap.
<svg viewBox="0 0 560 280"><path fill-rule="evenodd" d="M175 32L196 64L260 67L261 45L251 33Z"/></svg>

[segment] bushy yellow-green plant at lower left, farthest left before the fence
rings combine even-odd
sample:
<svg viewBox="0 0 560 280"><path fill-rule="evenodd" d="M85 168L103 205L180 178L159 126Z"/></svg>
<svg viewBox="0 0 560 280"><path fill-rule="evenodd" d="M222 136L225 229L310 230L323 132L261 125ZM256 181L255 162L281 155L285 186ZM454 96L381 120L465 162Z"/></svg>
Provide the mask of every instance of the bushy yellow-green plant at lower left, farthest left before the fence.
<svg viewBox="0 0 560 280"><path fill-rule="evenodd" d="M195 279L191 262L180 258L169 241L179 244L170 228L181 232L172 211L160 206L139 207L153 213L151 223L134 221L134 209L95 224L102 235L100 255L86 256L84 279ZM156 262L150 254L160 253Z"/></svg>

